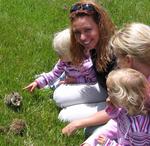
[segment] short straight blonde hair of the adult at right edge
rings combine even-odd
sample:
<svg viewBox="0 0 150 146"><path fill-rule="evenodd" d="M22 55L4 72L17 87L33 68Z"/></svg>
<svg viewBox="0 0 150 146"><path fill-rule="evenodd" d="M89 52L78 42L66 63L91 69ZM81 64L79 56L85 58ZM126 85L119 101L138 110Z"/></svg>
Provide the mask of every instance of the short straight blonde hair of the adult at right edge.
<svg viewBox="0 0 150 146"><path fill-rule="evenodd" d="M111 38L110 48L116 55L131 55L141 63L150 65L150 26L127 24Z"/></svg>

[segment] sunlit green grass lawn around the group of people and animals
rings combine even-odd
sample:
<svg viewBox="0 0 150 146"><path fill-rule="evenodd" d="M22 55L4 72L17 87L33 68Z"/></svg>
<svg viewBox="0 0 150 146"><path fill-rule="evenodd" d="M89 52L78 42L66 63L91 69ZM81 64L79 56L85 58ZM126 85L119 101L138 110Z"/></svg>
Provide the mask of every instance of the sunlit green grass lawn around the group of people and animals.
<svg viewBox="0 0 150 146"><path fill-rule="evenodd" d="M52 100L53 90L22 90L34 75L48 72L58 59L51 41L53 34L69 26L69 7L75 0L0 0L0 125L14 118L27 122L25 136L0 134L0 146L77 146L83 131L66 137L65 123L57 119L59 109ZM114 23L150 24L149 0L101 0ZM64 10L64 5L67 10ZM23 107L14 112L4 104L4 96L17 91Z"/></svg>

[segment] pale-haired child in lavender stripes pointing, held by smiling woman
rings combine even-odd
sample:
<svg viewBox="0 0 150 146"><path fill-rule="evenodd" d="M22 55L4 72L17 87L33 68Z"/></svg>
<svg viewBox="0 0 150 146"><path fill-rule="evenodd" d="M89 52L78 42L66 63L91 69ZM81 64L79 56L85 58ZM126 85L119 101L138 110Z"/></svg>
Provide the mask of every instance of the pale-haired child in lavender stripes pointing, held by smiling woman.
<svg viewBox="0 0 150 146"><path fill-rule="evenodd" d="M96 83L96 74L90 58L85 58L80 66L74 66L71 63L70 29L56 33L53 46L59 56L57 64L50 72L42 73L40 77L26 86L25 89L32 92L36 87L43 88L46 85L52 85L63 73L65 78L58 84Z"/></svg>

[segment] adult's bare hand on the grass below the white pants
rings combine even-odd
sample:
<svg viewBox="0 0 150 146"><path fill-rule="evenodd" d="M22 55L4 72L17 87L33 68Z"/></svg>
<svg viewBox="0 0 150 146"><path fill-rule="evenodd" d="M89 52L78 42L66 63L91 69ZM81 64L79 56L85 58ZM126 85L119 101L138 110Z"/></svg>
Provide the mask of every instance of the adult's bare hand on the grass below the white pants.
<svg viewBox="0 0 150 146"><path fill-rule="evenodd" d="M79 129L79 122L78 120L76 121L73 121L71 123L69 123L66 127L64 127L62 129L62 133L67 135L67 136L70 136L71 134L73 134L77 129Z"/></svg>

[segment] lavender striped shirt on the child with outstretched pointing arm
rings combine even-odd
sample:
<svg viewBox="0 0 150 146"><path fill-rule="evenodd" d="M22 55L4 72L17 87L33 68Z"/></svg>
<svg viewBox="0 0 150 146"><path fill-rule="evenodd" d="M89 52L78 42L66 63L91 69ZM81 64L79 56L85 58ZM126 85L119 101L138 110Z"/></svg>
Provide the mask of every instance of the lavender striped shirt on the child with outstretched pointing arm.
<svg viewBox="0 0 150 146"><path fill-rule="evenodd" d="M85 59L83 64L75 67L67 62L58 60L55 67L48 73L43 73L36 79L38 87L42 88L47 84L53 84L63 73L66 76L74 77L76 83L96 83L96 73L91 58Z"/></svg>

